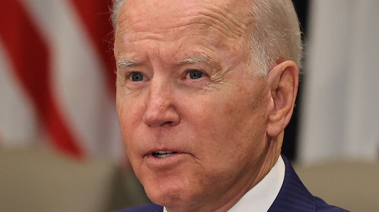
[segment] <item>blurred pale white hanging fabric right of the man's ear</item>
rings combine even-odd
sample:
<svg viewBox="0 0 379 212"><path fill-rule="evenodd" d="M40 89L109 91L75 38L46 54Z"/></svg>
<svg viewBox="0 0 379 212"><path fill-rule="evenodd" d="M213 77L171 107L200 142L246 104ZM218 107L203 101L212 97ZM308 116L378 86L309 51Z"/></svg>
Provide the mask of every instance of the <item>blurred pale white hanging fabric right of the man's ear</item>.
<svg viewBox="0 0 379 212"><path fill-rule="evenodd" d="M378 161L379 1L310 1L298 156Z"/></svg>

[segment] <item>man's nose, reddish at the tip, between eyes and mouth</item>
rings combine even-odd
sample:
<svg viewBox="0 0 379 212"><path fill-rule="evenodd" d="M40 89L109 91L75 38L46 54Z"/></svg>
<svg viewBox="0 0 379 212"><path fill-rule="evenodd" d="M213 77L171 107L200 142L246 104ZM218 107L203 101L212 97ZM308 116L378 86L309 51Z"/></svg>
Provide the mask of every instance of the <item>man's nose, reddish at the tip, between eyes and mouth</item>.
<svg viewBox="0 0 379 212"><path fill-rule="evenodd" d="M176 125L180 116L176 111L176 98L164 79L152 79L142 120L151 126Z"/></svg>

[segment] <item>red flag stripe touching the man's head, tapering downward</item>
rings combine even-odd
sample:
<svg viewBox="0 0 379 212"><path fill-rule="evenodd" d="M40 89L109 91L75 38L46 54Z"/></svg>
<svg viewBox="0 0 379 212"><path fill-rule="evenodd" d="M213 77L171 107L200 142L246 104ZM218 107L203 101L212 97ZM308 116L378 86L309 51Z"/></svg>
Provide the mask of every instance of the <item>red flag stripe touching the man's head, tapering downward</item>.
<svg viewBox="0 0 379 212"><path fill-rule="evenodd" d="M110 22L109 7L112 0L71 0L83 21L92 44L96 47L98 54L105 64L105 76L112 92L116 93L116 62L113 54L113 27Z"/></svg>

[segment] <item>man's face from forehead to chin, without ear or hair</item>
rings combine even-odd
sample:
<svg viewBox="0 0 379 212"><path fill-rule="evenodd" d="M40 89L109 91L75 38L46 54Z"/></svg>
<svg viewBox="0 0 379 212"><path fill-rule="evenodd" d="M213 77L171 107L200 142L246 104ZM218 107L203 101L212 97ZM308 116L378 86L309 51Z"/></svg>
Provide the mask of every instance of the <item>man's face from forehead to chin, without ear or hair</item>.
<svg viewBox="0 0 379 212"><path fill-rule="evenodd" d="M228 201L250 188L262 165L270 96L266 78L249 69L253 20L240 4L127 0L121 8L121 135L157 204Z"/></svg>

